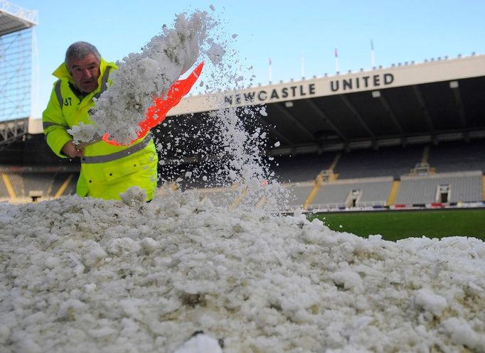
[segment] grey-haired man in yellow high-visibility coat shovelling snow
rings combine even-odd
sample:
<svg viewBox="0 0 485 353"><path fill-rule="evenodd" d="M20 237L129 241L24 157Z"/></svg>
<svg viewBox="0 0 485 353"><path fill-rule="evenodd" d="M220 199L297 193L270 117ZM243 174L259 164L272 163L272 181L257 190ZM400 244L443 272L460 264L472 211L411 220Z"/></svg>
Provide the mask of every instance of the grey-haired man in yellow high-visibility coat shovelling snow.
<svg viewBox="0 0 485 353"><path fill-rule="evenodd" d="M129 146L97 141L78 148L67 131L80 122L90 124L93 98L100 97L112 83L109 80L112 70L117 70L117 66L101 58L94 45L86 42L70 45L65 62L53 72L59 80L54 83L42 115L44 134L57 156L80 158L78 195L119 200L121 192L137 186L144 190L148 201L156 190L158 163L150 133Z"/></svg>

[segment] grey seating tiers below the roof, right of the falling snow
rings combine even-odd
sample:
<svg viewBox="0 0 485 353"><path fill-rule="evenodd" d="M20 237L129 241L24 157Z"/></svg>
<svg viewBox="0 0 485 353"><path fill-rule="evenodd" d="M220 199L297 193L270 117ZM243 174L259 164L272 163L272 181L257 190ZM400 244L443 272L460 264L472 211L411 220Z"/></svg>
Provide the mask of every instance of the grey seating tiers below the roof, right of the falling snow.
<svg viewBox="0 0 485 353"><path fill-rule="evenodd" d="M292 194L289 207L307 210L349 210L366 207L426 207L456 205L483 200L483 170L471 170L485 164L482 149L485 141L474 143L441 142L413 146L371 148L324 156L275 158L284 161L277 170ZM431 152L430 152L431 151ZM459 156L466 156L460 158ZM334 158L334 178L321 179L317 161ZM312 163L313 162L313 163ZM432 165L432 166L430 166ZM459 173L437 173L436 170L459 170ZM330 170L332 172L333 170ZM320 175L319 175L320 173ZM371 178L368 178L371 175ZM350 178L355 176L356 178ZM440 190L440 185L441 189Z"/></svg>

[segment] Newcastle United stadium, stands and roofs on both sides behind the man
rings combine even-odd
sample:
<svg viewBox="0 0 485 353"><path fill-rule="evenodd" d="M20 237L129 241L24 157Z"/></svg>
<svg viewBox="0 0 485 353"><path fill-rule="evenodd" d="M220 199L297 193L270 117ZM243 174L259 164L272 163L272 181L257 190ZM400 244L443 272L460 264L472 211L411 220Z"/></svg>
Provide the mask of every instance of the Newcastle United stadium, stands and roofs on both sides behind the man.
<svg viewBox="0 0 485 353"><path fill-rule="evenodd" d="M10 59L2 61L2 82L12 80L16 66L25 67L36 24L25 11L7 10L0 38ZM0 201L75 192L78 163L53 156L40 119L29 116L30 70L15 78L23 91L1 88ZM169 124L153 133L165 146L188 126L203 129L220 107L240 114L265 107L266 114L257 114L268 135L262 153L293 196L282 212L479 208L485 200L483 92L485 55L472 53L186 97L169 112ZM182 158L164 151L160 184L217 200L232 185L183 178L210 160L210 151L190 153L210 146L210 137L192 143Z"/></svg>

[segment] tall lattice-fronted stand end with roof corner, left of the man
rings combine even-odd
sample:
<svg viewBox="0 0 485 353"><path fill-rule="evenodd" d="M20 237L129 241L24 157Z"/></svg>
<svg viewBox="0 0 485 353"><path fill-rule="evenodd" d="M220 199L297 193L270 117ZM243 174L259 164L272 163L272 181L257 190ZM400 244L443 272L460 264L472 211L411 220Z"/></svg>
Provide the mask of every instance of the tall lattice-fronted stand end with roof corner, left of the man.
<svg viewBox="0 0 485 353"><path fill-rule="evenodd" d="M36 24L37 11L0 0L0 145L28 129Z"/></svg>

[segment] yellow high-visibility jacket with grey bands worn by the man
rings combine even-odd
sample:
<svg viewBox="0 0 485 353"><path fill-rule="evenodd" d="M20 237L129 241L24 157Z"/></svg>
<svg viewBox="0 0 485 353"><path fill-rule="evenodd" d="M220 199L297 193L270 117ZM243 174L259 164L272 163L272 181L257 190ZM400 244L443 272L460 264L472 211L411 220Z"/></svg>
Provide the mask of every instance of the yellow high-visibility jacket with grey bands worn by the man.
<svg viewBox="0 0 485 353"><path fill-rule="evenodd" d="M61 151L65 143L73 139L67 130L80 122L90 124L88 111L94 107L92 99L99 97L111 84L110 71L116 69L114 63L101 59L98 87L83 98L71 89L75 87L74 80L65 63L53 72L59 80L54 83L42 121L48 146L57 156L67 158ZM119 193L138 186L145 190L146 200L151 200L156 190L157 164L156 148L150 133L129 146L112 146L105 141L92 143L85 147L85 156L81 158L76 193L119 200Z"/></svg>

